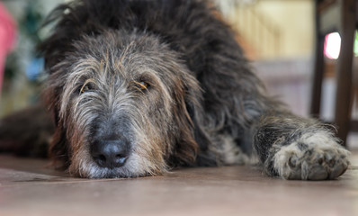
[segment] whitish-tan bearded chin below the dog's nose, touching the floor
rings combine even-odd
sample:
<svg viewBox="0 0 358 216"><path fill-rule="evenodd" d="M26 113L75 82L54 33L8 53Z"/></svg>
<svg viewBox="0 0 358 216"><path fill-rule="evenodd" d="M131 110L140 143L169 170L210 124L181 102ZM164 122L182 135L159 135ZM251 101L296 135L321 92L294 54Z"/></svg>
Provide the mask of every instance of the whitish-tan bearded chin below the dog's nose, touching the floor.
<svg viewBox="0 0 358 216"><path fill-rule="evenodd" d="M115 168L101 167L91 157L82 157L79 161L73 160L68 172L72 176L83 178L130 178L161 175L165 170L154 170L153 166L148 166L143 159L131 155L124 166Z"/></svg>

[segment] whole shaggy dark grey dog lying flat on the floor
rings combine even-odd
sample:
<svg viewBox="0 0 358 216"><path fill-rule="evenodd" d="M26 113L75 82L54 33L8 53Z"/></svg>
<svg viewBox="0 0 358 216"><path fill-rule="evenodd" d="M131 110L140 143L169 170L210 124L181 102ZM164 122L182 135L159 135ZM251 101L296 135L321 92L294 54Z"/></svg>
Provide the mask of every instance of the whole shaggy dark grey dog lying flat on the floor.
<svg viewBox="0 0 358 216"><path fill-rule="evenodd" d="M55 122L49 156L71 175L160 175L245 164L321 180L349 162L329 126L264 95L234 33L201 0L60 5L40 45Z"/></svg>

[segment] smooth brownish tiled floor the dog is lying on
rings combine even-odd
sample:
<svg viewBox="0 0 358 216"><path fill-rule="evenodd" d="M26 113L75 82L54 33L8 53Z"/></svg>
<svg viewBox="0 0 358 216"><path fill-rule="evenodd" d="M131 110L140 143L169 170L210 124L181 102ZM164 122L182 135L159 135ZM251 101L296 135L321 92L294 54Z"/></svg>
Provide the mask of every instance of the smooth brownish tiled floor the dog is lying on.
<svg viewBox="0 0 358 216"><path fill-rule="evenodd" d="M358 154L339 179L285 181L255 166L89 180L0 156L0 215L358 215Z"/></svg>

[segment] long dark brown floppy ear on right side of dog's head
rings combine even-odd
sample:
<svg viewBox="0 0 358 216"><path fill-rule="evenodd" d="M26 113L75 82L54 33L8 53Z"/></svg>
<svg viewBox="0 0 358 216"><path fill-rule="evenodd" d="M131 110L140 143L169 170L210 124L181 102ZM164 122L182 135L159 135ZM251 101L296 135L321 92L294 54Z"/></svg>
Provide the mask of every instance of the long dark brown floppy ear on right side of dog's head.
<svg viewBox="0 0 358 216"><path fill-rule="evenodd" d="M174 118L179 133L170 165L209 166L215 159L206 154L210 138L203 130L201 88L196 80L184 76L175 83Z"/></svg>

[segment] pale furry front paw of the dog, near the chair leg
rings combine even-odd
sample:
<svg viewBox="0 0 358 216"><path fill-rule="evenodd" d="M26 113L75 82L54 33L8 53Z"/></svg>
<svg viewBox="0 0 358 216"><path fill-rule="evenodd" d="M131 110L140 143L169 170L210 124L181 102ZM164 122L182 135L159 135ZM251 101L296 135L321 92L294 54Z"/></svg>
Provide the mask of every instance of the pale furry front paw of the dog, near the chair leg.
<svg viewBox="0 0 358 216"><path fill-rule="evenodd" d="M348 155L332 135L320 131L282 146L273 157L273 168L285 179L335 179L345 173Z"/></svg>

